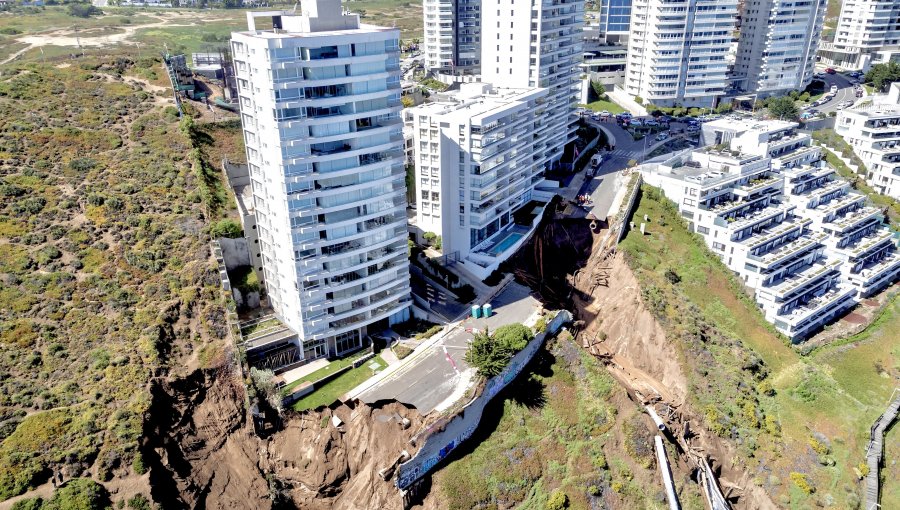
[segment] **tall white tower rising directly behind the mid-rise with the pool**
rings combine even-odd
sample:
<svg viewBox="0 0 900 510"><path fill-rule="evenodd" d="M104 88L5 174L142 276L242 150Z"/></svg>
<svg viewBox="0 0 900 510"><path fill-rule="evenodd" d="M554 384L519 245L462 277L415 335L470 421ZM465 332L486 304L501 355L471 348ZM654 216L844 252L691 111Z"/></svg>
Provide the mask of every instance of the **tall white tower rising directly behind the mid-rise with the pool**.
<svg viewBox="0 0 900 510"><path fill-rule="evenodd" d="M537 135L554 134L551 161L575 139L583 0L482 0L481 77L498 87L548 89Z"/></svg>

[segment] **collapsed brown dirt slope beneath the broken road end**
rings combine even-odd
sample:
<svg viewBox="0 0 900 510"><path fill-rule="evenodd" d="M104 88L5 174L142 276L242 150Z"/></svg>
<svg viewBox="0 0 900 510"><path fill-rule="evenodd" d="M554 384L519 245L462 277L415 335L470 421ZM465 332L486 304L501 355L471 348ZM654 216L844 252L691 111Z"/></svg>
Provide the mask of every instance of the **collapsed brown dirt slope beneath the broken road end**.
<svg viewBox="0 0 900 510"><path fill-rule="evenodd" d="M378 476L420 423L400 404L342 405L290 415L267 439L245 422L244 394L225 371L197 371L153 391L144 446L164 508L400 508ZM335 428L331 417L343 424ZM398 417L412 423L403 430ZM408 447L407 447L408 449Z"/></svg>

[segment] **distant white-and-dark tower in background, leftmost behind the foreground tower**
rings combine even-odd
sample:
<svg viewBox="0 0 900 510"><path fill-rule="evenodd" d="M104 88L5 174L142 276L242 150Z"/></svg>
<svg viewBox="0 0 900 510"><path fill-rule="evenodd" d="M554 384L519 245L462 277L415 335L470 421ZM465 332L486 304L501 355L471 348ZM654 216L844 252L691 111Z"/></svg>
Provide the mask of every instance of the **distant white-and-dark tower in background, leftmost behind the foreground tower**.
<svg viewBox="0 0 900 510"><path fill-rule="evenodd" d="M425 67L448 83L475 81L481 59L481 0L424 0L422 10Z"/></svg>

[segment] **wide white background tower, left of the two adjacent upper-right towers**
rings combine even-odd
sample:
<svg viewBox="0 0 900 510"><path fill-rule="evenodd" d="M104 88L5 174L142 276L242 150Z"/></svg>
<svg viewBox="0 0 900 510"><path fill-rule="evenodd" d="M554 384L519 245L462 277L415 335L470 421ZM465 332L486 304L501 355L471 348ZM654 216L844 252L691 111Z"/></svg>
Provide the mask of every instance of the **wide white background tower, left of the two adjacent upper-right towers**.
<svg viewBox="0 0 900 510"><path fill-rule="evenodd" d="M715 107L737 13L738 0L634 0L625 91L657 106Z"/></svg>

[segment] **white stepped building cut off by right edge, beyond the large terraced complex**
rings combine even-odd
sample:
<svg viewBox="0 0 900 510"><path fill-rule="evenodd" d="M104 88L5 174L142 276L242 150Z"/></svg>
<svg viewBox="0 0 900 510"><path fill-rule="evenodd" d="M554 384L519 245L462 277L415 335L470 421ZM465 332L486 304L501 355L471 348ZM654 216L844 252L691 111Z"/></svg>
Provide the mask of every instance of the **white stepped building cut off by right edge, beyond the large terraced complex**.
<svg viewBox="0 0 900 510"><path fill-rule="evenodd" d="M862 160L866 181L900 200L900 83L871 103L838 112L834 130Z"/></svg>

